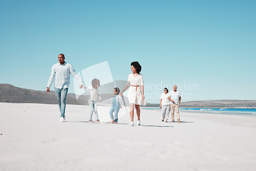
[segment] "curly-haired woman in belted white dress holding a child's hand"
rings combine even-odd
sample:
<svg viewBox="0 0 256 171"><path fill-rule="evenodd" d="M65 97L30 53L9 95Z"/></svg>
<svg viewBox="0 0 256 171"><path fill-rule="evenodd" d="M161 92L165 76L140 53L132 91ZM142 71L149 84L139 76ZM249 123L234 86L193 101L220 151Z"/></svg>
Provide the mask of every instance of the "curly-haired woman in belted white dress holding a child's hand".
<svg viewBox="0 0 256 171"><path fill-rule="evenodd" d="M130 116L131 116L131 123L130 125L134 125L134 105L137 113L137 125L140 125L140 105L146 105L145 97L144 97L144 82L143 77L140 74L141 66L139 62L135 61L131 63L131 70L132 74L128 76L127 83L125 87L123 88L123 91L120 92L120 95L122 96L123 92L130 87L128 92L128 99L130 103Z"/></svg>

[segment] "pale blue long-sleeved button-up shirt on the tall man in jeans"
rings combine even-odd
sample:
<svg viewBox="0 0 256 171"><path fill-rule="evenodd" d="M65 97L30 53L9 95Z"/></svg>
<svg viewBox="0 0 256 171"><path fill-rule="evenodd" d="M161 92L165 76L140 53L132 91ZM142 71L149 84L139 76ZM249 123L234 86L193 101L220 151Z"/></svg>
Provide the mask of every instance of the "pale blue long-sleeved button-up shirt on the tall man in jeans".
<svg viewBox="0 0 256 171"><path fill-rule="evenodd" d="M56 89L66 89L69 88L70 84L70 74L72 74L75 79L82 84L82 79L77 75L76 71L70 63L65 62L63 65L56 63L52 66L52 73L49 78L47 87L51 87L54 76L55 76L55 88Z"/></svg>

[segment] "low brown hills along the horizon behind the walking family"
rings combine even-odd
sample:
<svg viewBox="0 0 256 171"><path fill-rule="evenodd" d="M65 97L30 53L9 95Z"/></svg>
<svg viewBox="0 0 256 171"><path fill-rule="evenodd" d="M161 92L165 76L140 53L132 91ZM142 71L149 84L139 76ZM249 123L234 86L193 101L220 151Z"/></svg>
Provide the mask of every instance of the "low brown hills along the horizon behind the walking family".
<svg viewBox="0 0 256 171"><path fill-rule="evenodd" d="M113 94L100 94L101 104L111 104ZM68 93L67 104L85 104L88 105L90 95L76 95ZM124 102L129 105L129 100L124 97ZM0 83L0 102L11 103L45 103L57 104L57 98L54 91L37 91L14 87L11 84ZM146 107L159 107L159 103L146 103ZM181 108L256 108L256 100L203 100L203 101L186 101L180 103Z"/></svg>

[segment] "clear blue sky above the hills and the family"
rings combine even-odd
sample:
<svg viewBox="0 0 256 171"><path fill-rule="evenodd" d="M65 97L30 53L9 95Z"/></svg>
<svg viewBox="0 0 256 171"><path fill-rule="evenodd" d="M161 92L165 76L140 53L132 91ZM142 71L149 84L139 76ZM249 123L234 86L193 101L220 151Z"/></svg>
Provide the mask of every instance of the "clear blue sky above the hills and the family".
<svg viewBox="0 0 256 171"><path fill-rule="evenodd" d="M151 103L166 84L183 101L256 100L255 9L231 0L2 0L0 83L45 91L63 53L77 72L108 61L114 80L139 61Z"/></svg>

